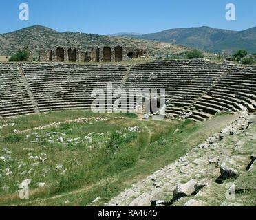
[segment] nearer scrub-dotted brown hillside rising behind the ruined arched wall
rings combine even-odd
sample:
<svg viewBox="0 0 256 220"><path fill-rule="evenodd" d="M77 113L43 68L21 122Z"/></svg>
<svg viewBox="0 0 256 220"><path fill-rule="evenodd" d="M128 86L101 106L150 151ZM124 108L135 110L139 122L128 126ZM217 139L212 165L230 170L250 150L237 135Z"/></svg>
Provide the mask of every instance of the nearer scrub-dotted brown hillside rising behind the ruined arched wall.
<svg viewBox="0 0 256 220"><path fill-rule="evenodd" d="M41 49L52 49L58 46L76 47L85 50L87 47L105 45L144 48L148 50L149 54L179 54L186 50L191 50L191 48L181 45L172 45L171 43L144 39L131 39L123 36L105 36L81 32L57 32L41 25L33 25L14 32L0 34L1 56L15 54L21 47L29 47L34 56L38 56Z"/></svg>

